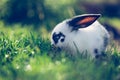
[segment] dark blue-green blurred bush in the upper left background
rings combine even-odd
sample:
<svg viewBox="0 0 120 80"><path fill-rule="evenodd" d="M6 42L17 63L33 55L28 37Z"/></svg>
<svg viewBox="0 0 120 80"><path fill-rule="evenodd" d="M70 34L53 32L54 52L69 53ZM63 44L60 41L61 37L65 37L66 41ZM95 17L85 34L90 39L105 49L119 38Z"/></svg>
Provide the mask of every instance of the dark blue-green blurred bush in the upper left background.
<svg viewBox="0 0 120 80"><path fill-rule="evenodd" d="M45 7L44 0L9 0L6 6L7 9L2 19L8 23L22 22L38 24L43 23L45 18L48 19L51 18L51 15L54 15Z"/></svg>

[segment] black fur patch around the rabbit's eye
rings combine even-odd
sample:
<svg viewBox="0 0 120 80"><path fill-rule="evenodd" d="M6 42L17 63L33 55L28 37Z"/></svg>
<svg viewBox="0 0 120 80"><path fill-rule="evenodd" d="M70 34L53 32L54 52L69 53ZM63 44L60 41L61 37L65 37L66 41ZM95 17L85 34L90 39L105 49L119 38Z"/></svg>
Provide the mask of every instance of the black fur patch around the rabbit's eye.
<svg viewBox="0 0 120 80"><path fill-rule="evenodd" d="M62 37L62 38L61 38ZM58 43L59 39L61 39L61 42L64 42L65 40L65 35L62 32L59 32L58 34L53 33L52 39L54 40L55 44Z"/></svg>

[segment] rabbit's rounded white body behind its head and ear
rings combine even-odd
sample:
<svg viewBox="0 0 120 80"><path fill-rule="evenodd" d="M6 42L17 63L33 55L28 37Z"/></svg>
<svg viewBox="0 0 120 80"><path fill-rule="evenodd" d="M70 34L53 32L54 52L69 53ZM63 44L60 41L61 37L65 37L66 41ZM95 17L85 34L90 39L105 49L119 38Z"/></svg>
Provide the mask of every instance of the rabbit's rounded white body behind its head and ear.
<svg viewBox="0 0 120 80"><path fill-rule="evenodd" d="M79 29L74 33L73 45L76 45L80 53L90 53L93 57L100 55L109 42L109 34L98 22L94 22L87 28ZM74 51L76 52L76 50Z"/></svg>

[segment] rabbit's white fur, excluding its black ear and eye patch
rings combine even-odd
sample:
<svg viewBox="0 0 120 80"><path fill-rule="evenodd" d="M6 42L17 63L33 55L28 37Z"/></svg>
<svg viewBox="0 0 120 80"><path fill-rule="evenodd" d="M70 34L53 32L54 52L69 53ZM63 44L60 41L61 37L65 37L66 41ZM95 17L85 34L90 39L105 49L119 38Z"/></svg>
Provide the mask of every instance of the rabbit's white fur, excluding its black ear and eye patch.
<svg viewBox="0 0 120 80"><path fill-rule="evenodd" d="M59 41L58 44L55 44L51 35L51 44L73 55L77 54L78 51L80 53L87 51L88 54L95 57L95 49L98 49L99 54L105 51L104 37L109 38L109 34L98 21L86 28L80 28L78 31L71 31L67 21L59 23L52 31L52 35L54 32L62 32L66 36L65 41L63 43Z"/></svg>

